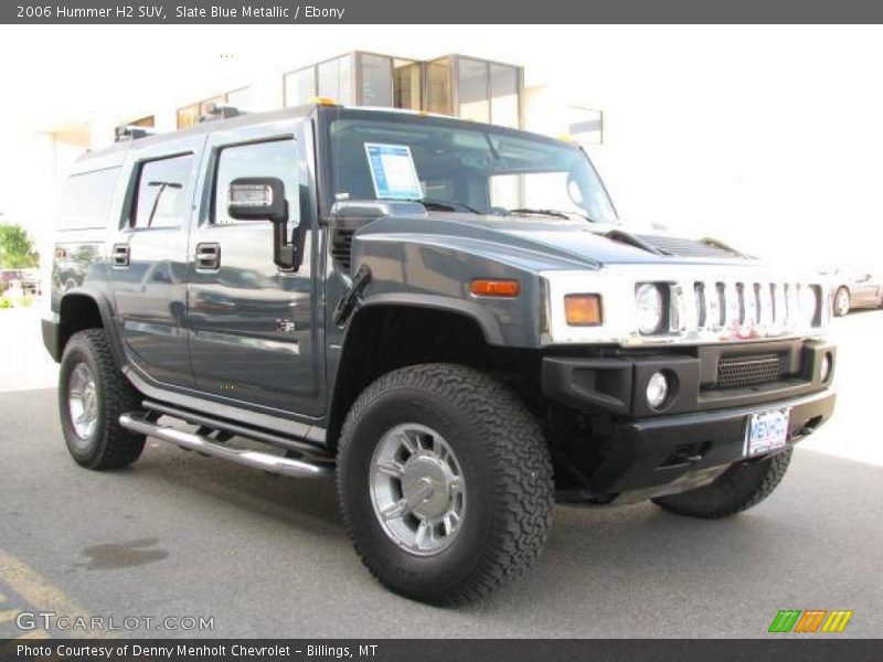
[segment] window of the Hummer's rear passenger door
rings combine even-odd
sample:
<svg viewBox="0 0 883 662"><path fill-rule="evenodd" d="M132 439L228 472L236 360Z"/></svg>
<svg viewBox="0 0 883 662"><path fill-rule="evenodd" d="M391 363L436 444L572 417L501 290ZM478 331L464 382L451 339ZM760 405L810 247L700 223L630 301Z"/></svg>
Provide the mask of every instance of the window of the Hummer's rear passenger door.
<svg viewBox="0 0 883 662"><path fill-rule="evenodd" d="M138 172L130 225L177 227L190 216L193 154L146 161Z"/></svg>

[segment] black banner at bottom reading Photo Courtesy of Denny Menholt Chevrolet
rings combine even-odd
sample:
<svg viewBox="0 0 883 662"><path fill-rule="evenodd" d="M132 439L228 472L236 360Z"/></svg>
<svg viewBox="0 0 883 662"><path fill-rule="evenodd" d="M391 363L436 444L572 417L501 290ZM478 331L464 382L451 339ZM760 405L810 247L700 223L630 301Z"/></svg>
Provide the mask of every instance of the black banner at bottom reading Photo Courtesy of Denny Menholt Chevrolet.
<svg viewBox="0 0 883 662"><path fill-rule="evenodd" d="M883 659L875 639L68 639L0 640L0 660L39 662L689 662Z"/></svg>

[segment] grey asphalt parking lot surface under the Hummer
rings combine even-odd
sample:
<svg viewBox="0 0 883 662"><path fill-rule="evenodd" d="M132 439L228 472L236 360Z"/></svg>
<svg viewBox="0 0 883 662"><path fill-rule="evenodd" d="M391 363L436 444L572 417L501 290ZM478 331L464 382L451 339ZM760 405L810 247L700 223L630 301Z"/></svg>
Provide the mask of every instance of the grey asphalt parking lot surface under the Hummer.
<svg viewBox="0 0 883 662"><path fill-rule="evenodd" d="M137 618L131 634L162 637L764 637L779 609L850 609L839 637L880 637L881 331L883 311L834 321L834 419L759 506L719 522L558 506L523 579L437 609L371 578L330 481L152 440L130 469L76 467L36 312L0 310L0 637L26 633L22 610ZM183 631L187 617L213 629Z"/></svg>

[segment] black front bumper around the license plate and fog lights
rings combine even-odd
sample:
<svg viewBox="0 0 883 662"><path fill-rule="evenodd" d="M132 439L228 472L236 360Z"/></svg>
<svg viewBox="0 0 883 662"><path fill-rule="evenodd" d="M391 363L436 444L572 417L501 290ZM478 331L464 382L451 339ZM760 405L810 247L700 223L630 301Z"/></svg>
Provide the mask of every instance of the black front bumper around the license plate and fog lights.
<svg viewBox="0 0 883 662"><path fill-rule="evenodd" d="M833 371L821 380L822 357L833 360L833 346L806 342L790 351L796 355L792 374L731 389L703 388L701 351L544 359L545 397L578 412L591 430L563 451L558 448L555 459L567 474L558 501L624 503L705 484L745 459L748 419L757 412L790 408L790 448L830 418L836 401ZM662 410L653 412L643 393L658 370L674 374L678 388ZM556 440L552 444L555 448ZM592 445L596 451L581 452L581 446Z"/></svg>

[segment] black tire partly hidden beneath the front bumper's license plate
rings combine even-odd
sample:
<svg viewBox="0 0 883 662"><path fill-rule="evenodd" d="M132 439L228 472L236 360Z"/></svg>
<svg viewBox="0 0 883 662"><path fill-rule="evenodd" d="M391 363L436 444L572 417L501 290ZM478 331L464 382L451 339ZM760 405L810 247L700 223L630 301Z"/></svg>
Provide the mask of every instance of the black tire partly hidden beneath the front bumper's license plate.
<svg viewBox="0 0 883 662"><path fill-rule="evenodd" d="M662 510L675 515L720 520L754 508L773 493L791 461L791 449L773 457L731 466L714 482L653 499Z"/></svg>

